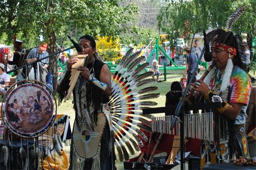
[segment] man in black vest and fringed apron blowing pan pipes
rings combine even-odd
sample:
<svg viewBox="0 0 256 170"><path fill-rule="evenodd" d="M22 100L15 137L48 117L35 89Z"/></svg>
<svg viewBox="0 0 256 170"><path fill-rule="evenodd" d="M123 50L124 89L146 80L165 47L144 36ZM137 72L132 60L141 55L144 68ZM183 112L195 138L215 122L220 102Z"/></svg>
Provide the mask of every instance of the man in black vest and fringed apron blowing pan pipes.
<svg viewBox="0 0 256 170"><path fill-rule="evenodd" d="M108 97L111 92L111 73L108 65L96 58L96 43L90 35L81 36L79 45L87 54L88 65L77 70L80 77L73 90L75 123L70 151L70 169L112 169L113 135L109 123ZM67 61L67 70L57 85L57 92L63 99L68 91L72 65L77 57ZM82 82L79 92L80 81Z"/></svg>

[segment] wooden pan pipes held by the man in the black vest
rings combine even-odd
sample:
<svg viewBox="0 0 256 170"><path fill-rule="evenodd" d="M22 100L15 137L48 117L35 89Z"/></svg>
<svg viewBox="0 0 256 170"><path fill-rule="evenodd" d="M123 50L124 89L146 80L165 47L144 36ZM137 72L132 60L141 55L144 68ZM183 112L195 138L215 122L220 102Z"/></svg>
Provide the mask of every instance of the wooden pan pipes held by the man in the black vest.
<svg viewBox="0 0 256 170"><path fill-rule="evenodd" d="M69 84L70 88L68 88L67 95L66 95L66 98L64 98L64 101L66 101L70 98L70 95L75 87L75 84L77 84L77 80L78 80L78 77L81 72L81 71L77 70L77 68L79 68L79 66L83 66L85 64L87 54L74 55L72 57L77 57L78 62L72 65L70 84Z"/></svg>

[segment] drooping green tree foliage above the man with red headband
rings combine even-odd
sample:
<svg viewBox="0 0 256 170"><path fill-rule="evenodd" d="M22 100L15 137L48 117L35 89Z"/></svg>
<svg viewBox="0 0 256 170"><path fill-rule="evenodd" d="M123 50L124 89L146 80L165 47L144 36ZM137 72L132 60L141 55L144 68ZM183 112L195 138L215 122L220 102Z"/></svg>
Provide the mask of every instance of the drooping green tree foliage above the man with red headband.
<svg viewBox="0 0 256 170"><path fill-rule="evenodd" d="M158 27L168 33L175 42L177 38L188 39L196 29L225 28L230 14L241 5L246 5L245 13L236 21L232 31L255 36L256 1L254 0L192 0L165 1L158 15ZM175 45L175 44L174 44Z"/></svg>

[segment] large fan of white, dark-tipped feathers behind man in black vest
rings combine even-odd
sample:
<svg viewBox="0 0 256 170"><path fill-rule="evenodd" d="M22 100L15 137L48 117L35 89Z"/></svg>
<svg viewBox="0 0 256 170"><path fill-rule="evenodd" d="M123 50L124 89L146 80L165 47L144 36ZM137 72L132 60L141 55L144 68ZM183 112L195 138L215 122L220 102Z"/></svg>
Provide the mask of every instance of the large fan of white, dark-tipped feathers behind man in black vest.
<svg viewBox="0 0 256 170"><path fill-rule="evenodd" d="M112 95L108 102L112 117L115 147L120 161L129 159L129 154L138 151L143 141L148 141L142 129L151 132L151 118L142 115L142 108L156 106L154 101L148 99L158 98L157 90L152 76L153 72L145 72L149 63L143 63L144 57L139 56L140 51L132 54L133 49L127 51L119 65L116 66L112 78ZM147 85L146 88L140 88ZM139 145L139 146L138 146Z"/></svg>

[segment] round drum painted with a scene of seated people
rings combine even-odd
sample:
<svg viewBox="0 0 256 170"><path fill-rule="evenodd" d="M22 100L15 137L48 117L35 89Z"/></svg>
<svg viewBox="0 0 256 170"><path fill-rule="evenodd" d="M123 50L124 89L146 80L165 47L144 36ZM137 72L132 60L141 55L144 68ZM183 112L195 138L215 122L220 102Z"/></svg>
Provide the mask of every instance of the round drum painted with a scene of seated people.
<svg viewBox="0 0 256 170"><path fill-rule="evenodd" d="M56 108L54 95L45 84L22 80L13 84L4 96L3 120L14 134L33 138L51 127Z"/></svg>

